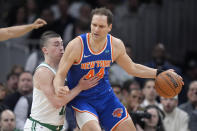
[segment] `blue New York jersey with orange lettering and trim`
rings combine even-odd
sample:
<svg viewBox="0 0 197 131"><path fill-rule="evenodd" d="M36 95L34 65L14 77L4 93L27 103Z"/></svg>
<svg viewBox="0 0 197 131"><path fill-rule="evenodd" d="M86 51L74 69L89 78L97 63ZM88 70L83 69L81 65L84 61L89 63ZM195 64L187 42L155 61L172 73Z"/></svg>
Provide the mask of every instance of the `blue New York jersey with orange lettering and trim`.
<svg viewBox="0 0 197 131"><path fill-rule="evenodd" d="M101 68L104 68L104 76L99 81L99 84L95 87L82 91L77 97L83 96L83 97L89 97L89 96L99 96L105 93L108 93L111 91L111 86L109 83L109 68L112 64L112 51L111 51L111 41L110 41L110 35L107 35L107 46L106 48L99 54L92 54L88 48L87 43L87 34L82 34L80 37L83 40L83 56L81 63L78 65L72 65L68 72L67 80L68 80L68 86L70 89L74 88L81 77L86 75L90 70L94 70L94 74L97 74ZM94 66L90 67L90 62ZM105 65L104 63L109 63L109 67L103 67ZM84 68L84 69L82 69ZM96 97L95 96L95 97Z"/></svg>

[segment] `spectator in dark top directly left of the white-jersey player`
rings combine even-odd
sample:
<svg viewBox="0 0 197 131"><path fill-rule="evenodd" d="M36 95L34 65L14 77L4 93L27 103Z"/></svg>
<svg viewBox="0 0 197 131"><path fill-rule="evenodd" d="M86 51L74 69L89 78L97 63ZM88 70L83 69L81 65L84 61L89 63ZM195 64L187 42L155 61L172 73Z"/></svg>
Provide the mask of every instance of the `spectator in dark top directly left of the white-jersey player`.
<svg viewBox="0 0 197 131"><path fill-rule="evenodd" d="M3 104L13 111L19 98L32 92L32 79L30 72L22 72L19 76L17 91L8 95L4 99Z"/></svg>

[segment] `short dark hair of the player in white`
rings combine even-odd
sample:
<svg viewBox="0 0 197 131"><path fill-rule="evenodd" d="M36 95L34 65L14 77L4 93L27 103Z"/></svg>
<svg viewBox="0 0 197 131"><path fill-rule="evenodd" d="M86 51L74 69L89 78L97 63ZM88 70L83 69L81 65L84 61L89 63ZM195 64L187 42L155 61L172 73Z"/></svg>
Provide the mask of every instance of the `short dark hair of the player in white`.
<svg viewBox="0 0 197 131"><path fill-rule="evenodd" d="M54 31L45 31L40 37L40 48L46 46L47 40L54 37L61 37Z"/></svg>

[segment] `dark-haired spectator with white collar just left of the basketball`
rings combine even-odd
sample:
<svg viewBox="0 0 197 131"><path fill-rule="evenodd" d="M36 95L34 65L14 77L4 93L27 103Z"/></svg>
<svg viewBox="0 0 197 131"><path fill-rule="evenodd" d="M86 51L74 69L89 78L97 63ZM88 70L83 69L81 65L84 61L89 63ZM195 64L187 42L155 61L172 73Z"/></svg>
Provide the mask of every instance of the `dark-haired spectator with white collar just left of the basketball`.
<svg viewBox="0 0 197 131"><path fill-rule="evenodd" d="M156 105L158 107L161 107L161 104L158 103L156 100L158 94L155 90L155 80L147 79L145 81L144 87L143 87L143 94L145 96L145 99L143 103L141 104L142 107L146 107L148 105Z"/></svg>

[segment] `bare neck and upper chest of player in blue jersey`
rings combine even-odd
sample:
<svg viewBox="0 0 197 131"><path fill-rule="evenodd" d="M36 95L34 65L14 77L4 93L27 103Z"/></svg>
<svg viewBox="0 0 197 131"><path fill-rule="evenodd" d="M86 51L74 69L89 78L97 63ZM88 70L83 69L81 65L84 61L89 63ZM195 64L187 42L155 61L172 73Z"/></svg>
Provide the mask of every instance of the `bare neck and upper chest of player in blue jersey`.
<svg viewBox="0 0 197 131"><path fill-rule="evenodd" d="M94 50L94 52L99 52L102 50L105 46L105 43L107 41L107 37L100 38L100 39L94 39L91 34L89 35L89 44L91 49Z"/></svg>

